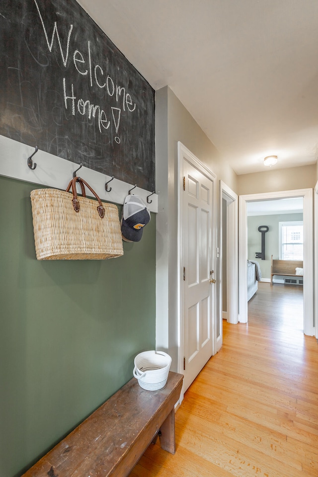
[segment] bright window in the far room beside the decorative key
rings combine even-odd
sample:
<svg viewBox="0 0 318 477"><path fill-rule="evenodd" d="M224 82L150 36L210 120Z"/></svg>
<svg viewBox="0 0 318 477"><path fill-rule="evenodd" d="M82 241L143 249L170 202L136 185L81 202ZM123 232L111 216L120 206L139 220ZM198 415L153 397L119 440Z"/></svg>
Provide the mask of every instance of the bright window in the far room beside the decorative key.
<svg viewBox="0 0 318 477"><path fill-rule="evenodd" d="M303 260L304 227L302 221L279 223L279 258Z"/></svg>

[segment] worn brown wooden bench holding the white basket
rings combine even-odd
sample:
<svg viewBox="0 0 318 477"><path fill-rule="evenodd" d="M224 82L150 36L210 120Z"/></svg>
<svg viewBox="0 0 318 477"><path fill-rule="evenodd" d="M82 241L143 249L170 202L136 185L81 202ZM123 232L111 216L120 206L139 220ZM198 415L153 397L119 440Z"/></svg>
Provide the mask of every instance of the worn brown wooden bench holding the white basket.
<svg viewBox="0 0 318 477"><path fill-rule="evenodd" d="M163 389L146 391L131 379L22 477L126 477L158 434L174 454L182 380L170 371Z"/></svg>

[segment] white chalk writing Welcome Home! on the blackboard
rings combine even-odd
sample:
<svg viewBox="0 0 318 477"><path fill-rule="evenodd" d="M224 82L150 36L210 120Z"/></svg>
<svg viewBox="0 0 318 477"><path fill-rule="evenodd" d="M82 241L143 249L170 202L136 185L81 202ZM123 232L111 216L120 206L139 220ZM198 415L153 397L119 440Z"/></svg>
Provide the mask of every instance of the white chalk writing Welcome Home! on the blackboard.
<svg viewBox="0 0 318 477"><path fill-rule="evenodd" d="M102 133L104 130L107 130L111 124L111 121L113 121L117 135L120 125L121 112L127 111L128 114L130 114L136 109L136 103L133 101L131 95L123 86L116 84L109 75L106 75L100 65L93 64L91 58L90 41L87 41L87 50L85 52L76 49L73 53L73 56L70 55L70 41L73 32L72 24L70 25L67 42L66 45L64 45L64 48L62 47L61 37L57 28L57 22L54 22L52 37L50 40L39 5L36 0L34 0L34 3L39 13L49 51L52 53L54 41L56 39L64 67L67 68L68 62L73 60L74 67L79 75L87 77L91 87L103 89L105 95L112 98L116 104L116 106L110 107L110 112L107 115L105 109L99 104L93 104L89 99L80 97L78 92L74 90L74 84L71 81L68 82L66 78L63 78L62 87L65 108L70 109L74 116L76 114L80 114L81 116L87 116L88 119L95 119L100 133ZM70 58L72 58L72 60L70 60ZM115 141L120 143L120 138L116 136Z"/></svg>

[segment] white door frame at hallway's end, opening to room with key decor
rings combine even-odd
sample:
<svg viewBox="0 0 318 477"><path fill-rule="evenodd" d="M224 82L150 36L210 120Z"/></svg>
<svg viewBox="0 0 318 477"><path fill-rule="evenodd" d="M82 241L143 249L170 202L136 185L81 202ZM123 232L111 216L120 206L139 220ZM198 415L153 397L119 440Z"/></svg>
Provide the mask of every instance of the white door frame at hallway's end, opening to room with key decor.
<svg viewBox="0 0 318 477"><path fill-rule="evenodd" d="M313 260L313 189L295 189L279 192L239 196L239 321L247 323L247 211L246 203L258 200L275 200L303 197L304 222L304 333L314 336L314 260Z"/></svg>

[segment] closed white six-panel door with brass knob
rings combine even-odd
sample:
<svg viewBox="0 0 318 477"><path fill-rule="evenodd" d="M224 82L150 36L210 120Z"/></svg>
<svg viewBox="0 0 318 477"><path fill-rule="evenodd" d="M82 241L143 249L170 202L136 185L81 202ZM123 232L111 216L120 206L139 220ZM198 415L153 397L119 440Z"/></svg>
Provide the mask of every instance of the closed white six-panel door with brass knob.
<svg viewBox="0 0 318 477"><path fill-rule="evenodd" d="M213 354L213 180L183 155L181 295L185 391Z"/></svg>

